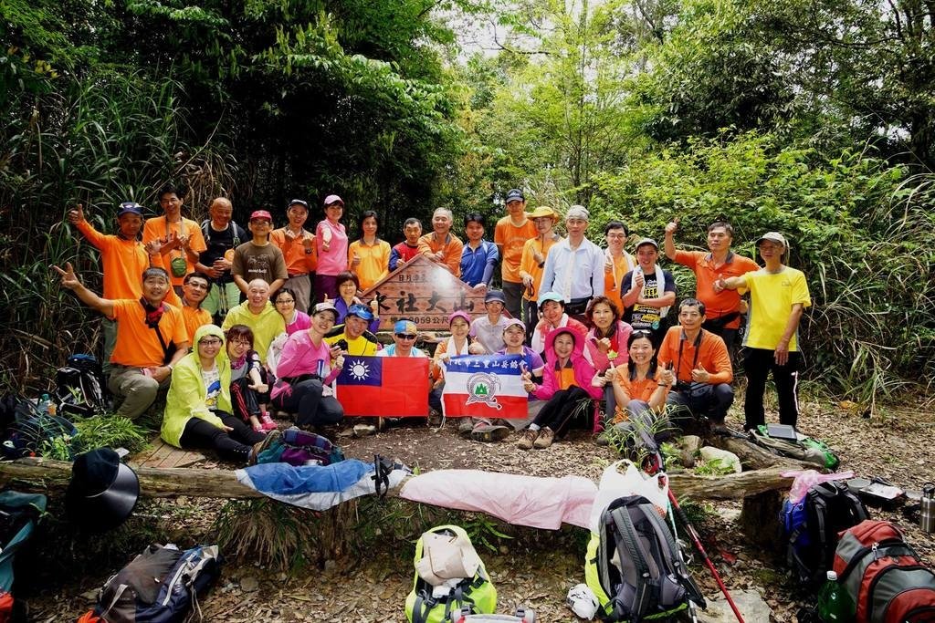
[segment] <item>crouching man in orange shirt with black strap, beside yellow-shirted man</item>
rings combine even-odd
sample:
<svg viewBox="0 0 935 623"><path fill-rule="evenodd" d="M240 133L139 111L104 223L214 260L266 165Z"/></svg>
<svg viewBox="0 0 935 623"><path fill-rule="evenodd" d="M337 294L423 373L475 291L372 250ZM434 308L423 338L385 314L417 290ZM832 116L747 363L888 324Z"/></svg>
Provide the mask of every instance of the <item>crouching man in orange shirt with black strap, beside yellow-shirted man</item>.
<svg viewBox="0 0 935 623"><path fill-rule="evenodd" d="M663 338L659 365L675 373L666 404L682 406L695 418L710 418L723 429L727 409L734 403L734 369L724 340L701 328L704 319L705 307L698 299L679 304L681 326L670 328ZM674 416L673 421L680 418L678 413Z"/></svg>

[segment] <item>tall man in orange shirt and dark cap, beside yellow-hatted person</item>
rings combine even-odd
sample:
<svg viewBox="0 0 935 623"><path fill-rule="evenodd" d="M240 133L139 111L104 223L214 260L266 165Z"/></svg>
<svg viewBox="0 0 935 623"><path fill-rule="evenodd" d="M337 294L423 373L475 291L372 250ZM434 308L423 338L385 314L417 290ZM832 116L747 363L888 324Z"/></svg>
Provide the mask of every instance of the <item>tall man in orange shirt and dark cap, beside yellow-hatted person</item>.
<svg viewBox="0 0 935 623"><path fill-rule="evenodd" d="M512 189L507 192L507 213L507 216L496 221L494 244L500 252L501 289L507 299L507 311L512 318L519 319L523 295L523 277L520 276L523 246L526 240L535 238L538 232L536 223L525 212L523 191ZM531 319L525 321L526 325L535 324Z"/></svg>

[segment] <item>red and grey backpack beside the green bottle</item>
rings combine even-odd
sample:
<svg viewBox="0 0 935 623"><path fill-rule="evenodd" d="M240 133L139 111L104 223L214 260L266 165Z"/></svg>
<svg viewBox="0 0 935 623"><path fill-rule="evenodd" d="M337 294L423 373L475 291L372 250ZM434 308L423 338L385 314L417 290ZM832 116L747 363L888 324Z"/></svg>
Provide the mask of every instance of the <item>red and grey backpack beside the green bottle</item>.
<svg viewBox="0 0 935 623"><path fill-rule="evenodd" d="M842 531L834 571L856 603L856 623L935 623L935 573L888 521Z"/></svg>

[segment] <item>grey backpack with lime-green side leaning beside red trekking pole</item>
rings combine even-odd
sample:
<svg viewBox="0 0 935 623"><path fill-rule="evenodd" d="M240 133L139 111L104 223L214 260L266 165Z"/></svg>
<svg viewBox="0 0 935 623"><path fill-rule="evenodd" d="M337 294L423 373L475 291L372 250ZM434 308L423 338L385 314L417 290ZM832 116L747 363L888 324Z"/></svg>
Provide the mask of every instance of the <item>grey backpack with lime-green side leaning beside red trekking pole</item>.
<svg viewBox="0 0 935 623"><path fill-rule="evenodd" d="M584 581L594 591L603 621L663 618L704 597L685 567L669 526L642 496L614 500L591 533Z"/></svg>

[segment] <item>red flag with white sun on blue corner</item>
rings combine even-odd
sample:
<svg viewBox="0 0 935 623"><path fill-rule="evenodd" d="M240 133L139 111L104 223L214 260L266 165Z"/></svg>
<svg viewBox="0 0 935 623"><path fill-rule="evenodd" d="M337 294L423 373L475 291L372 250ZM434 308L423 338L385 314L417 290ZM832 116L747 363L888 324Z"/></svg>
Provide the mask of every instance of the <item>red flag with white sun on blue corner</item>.
<svg viewBox="0 0 935 623"><path fill-rule="evenodd" d="M344 415L426 417L428 362L417 357L345 356L335 387Z"/></svg>

